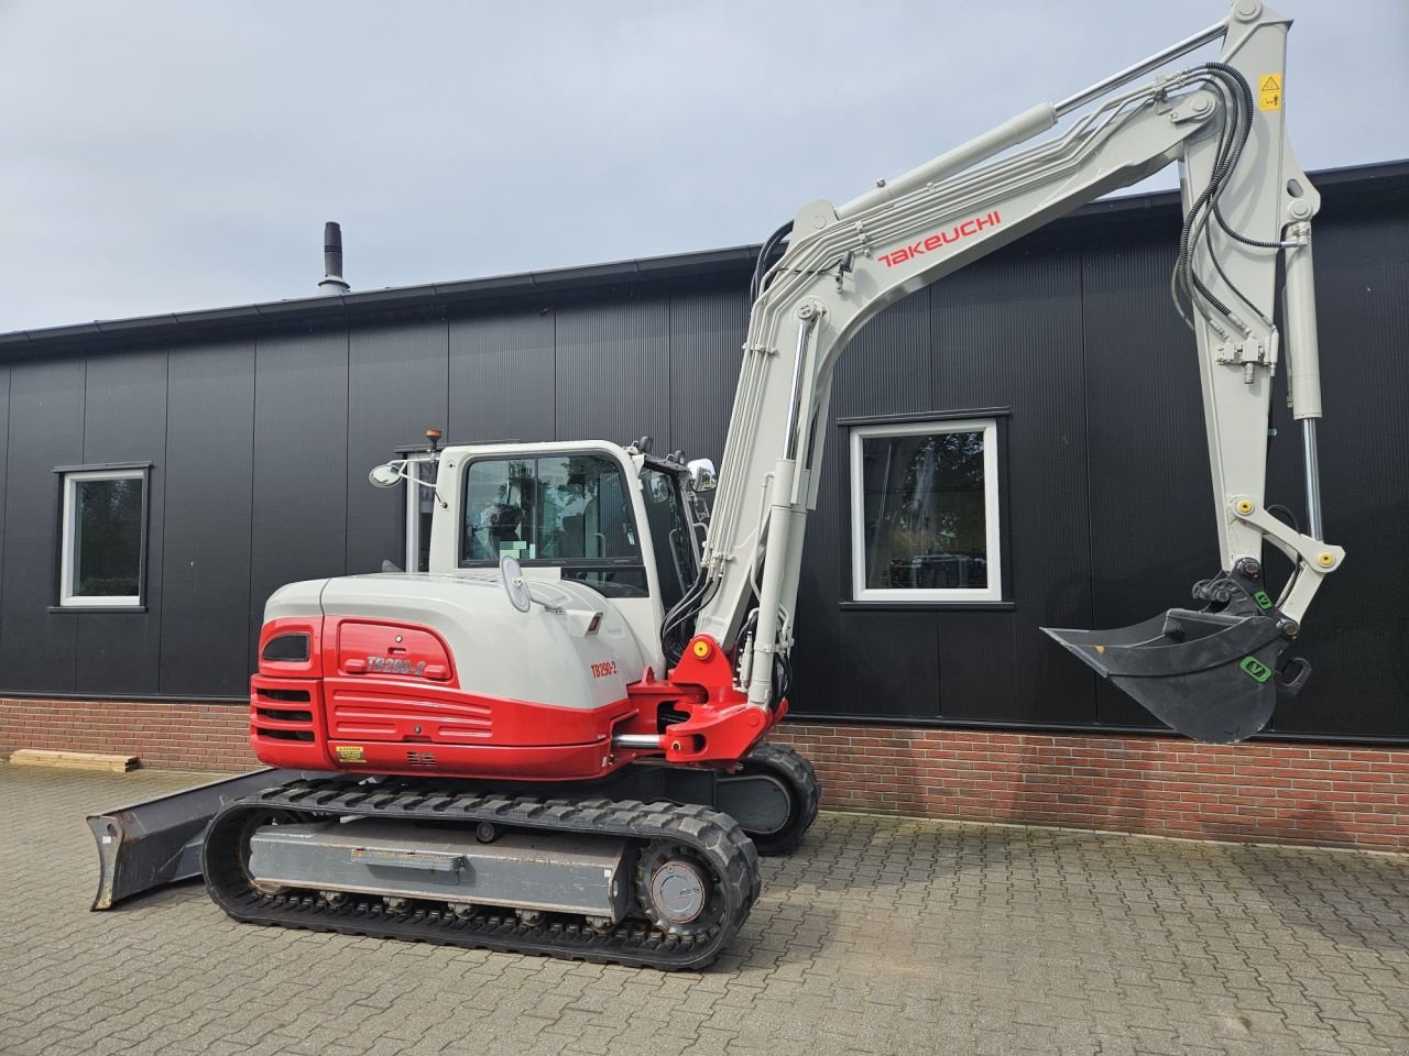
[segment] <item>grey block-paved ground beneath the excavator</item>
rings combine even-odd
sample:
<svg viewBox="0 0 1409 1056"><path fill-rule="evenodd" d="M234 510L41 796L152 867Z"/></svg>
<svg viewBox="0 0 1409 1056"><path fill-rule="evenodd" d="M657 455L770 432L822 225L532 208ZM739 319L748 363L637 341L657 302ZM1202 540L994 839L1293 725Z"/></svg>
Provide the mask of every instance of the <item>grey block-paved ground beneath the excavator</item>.
<svg viewBox="0 0 1409 1056"><path fill-rule="evenodd" d="M89 912L85 815L201 780L0 765L6 1056L1409 1053L1409 857L823 814L676 974Z"/></svg>

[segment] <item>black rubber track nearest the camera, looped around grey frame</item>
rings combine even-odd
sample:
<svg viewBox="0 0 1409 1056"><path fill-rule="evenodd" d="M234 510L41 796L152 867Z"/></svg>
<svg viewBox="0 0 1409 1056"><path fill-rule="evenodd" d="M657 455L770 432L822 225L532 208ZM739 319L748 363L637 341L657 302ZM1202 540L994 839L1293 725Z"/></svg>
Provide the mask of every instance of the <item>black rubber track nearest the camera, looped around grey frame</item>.
<svg viewBox="0 0 1409 1056"><path fill-rule="evenodd" d="M519 829L624 836L640 843L671 839L693 848L709 862L723 887L724 912L709 932L681 938L652 931L644 919L627 919L600 934L551 915L544 924L526 926L510 910L496 907L462 921L434 907L396 914L376 897L348 895L347 903L333 907L311 893L265 895L249 886L234 842L244 828L242 815L275 810L451 821L469 828L488 821ZM733 818L707 807L464 793L414 779L379 784L361 784L355 777L294 781L237 800L211 819L203 867L210 897L237 921L665 970L710 964L733 942L759 891L758 852L752 842Z"/></svg>

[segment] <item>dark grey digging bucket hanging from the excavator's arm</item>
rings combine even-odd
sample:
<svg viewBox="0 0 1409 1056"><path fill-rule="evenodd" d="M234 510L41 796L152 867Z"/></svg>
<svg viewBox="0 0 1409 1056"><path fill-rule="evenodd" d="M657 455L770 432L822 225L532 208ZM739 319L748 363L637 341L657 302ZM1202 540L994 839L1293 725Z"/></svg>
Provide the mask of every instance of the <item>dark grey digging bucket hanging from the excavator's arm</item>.
<svg viewBox="0 0 1409 1056"><path fill-rule="evenodd" d="M1277 667L1288 642L1265 615L1171 608L1115 631L1043 629L1196 741L1230 745L1251 736L1277 705Z"/></svg>

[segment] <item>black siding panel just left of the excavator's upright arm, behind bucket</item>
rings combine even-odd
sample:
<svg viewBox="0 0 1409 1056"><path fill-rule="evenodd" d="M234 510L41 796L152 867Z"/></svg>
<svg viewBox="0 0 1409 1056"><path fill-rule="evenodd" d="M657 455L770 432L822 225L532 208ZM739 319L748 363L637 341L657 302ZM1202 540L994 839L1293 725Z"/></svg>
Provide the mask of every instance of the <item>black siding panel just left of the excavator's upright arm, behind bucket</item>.
<svg viewBox="0 0 1409 1056"><path fill-rule="evenodd" d="M1219 569L1198 352L1169 301L1177 235L1112 230L1084 258L1095 628L1182 605ZM1098 722L1160 725L1096 690Z"/></svg>

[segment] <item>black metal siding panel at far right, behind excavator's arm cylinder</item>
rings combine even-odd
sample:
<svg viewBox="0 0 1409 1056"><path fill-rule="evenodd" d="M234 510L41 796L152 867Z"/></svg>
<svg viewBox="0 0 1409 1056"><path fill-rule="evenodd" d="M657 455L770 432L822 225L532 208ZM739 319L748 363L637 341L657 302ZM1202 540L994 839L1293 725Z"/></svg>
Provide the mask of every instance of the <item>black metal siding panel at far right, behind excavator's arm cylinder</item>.
<svg viewBox="0 0 1409 1056"><path fill-rule="evenodd" d="M1316 228L1323 404L1317 429L1326 536L1346 565L1322 586L1293 646L1313 673L1278 704L1272 729L1409 736L1409 206L1330 217ZM1306 524L1301 424L1274 397L1268 501ZM1268 548L1278 586L1288 562Z"/></svg>

